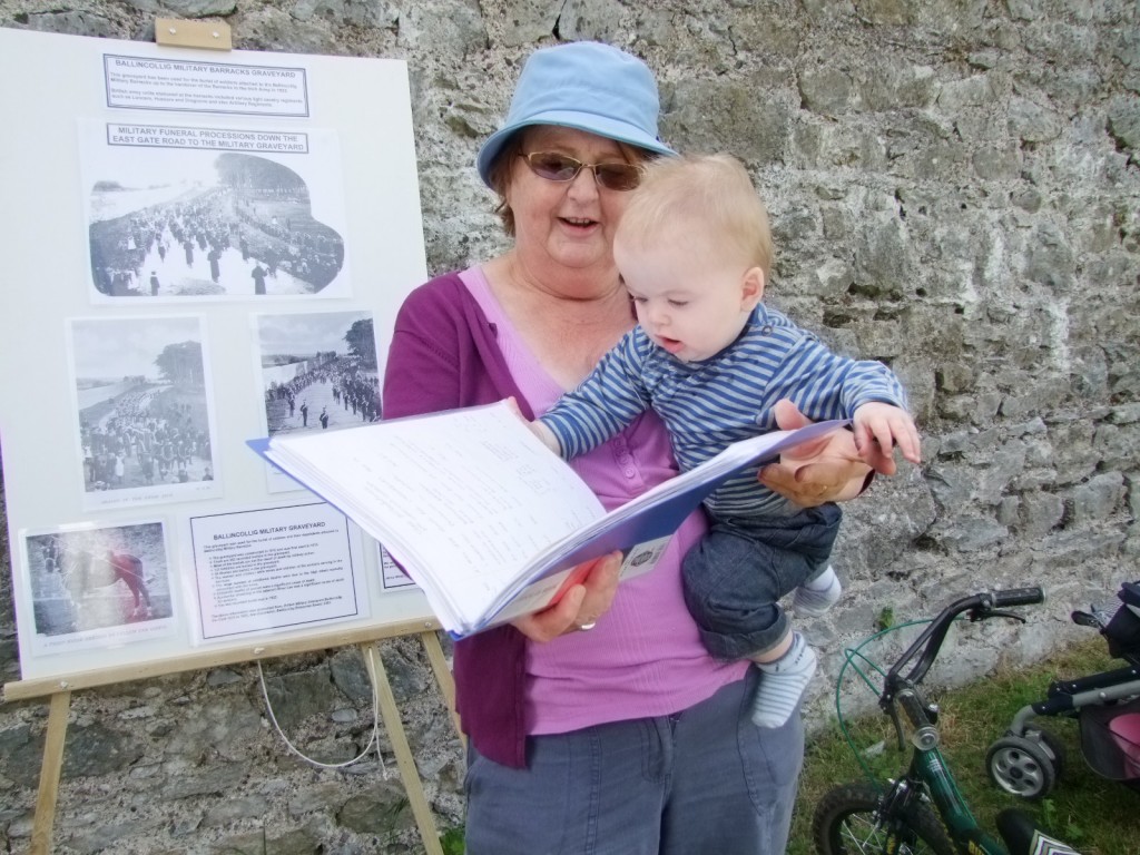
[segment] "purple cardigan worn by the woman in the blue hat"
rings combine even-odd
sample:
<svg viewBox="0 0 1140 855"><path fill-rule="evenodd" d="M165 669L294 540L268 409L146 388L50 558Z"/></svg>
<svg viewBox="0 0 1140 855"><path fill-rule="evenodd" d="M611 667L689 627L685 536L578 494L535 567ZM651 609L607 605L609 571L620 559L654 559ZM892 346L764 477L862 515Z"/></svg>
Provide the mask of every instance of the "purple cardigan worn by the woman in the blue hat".
<svg viewBox="0 0 1140 855"><path fill-rule="evenodd" d="M384 372L384 417L491 404L515 385L489 323L457 274L416 288L396 318ZM497 627L455 644L455 706L477 750L505 766L527 765L526 637Z"/></svg>

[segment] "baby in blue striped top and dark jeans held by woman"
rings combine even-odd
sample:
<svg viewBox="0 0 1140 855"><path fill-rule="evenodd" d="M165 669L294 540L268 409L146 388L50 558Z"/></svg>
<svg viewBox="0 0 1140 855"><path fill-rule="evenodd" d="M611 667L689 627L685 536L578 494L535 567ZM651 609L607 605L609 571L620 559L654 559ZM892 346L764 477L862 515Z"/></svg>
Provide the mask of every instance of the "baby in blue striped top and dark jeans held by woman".
<svg viewBox="0 0 1140 855"><path fill-rule="evenodd" d="M731 442L775 429L788 398L808 417L852 418L856 447L898 447L919 463L919 435L898 378L881 363L828 350L760 298L772 269L767 212L727 155L666 157L645 168L613 241L638 325L531 429L570 459L646 409L665 422L683 470ZM706 649L762 671L752 720L779 727L816 668L779 600L822 614L841 593L828 563L834 504L799 508L756 466L708 499L709 532L685 556L685 601Z"/></svg>

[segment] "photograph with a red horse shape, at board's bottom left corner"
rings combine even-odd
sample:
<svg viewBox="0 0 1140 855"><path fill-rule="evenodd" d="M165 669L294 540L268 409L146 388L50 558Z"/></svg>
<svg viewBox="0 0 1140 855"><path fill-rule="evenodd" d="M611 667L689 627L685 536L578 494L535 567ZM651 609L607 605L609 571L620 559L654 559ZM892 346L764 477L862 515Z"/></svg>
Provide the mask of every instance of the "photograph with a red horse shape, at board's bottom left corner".
<svg viewBox="0 0 1140 855"><path fill-rule="evenodd" d="M71 635L173 613L161 522L24 538L35 633Z"/></svg>

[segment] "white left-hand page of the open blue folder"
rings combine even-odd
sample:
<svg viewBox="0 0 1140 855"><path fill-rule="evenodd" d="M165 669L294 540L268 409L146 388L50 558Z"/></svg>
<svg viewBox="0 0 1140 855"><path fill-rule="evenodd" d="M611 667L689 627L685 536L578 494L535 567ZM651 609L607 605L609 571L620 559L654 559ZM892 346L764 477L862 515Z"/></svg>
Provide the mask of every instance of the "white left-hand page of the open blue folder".
<svg viewBox="0 0 1140 855"><path fill-rule="evenodd" d="M271 449L303 459L302 478L327 483L325 498L349 515L359 511L361 527L413 578L434 577L454 613L469 620L537 553L603 514L581 479L505 405L335 438L275 439ZM429 578L416 580L430 587Z"/></svg>

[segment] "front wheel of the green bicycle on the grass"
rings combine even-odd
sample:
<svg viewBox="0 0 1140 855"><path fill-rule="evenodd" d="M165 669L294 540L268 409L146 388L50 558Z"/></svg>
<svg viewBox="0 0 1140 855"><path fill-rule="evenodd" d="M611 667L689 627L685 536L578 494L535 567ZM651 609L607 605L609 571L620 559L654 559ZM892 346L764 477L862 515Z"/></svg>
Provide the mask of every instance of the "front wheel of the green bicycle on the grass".
<svg viewBox="0 0 1140 855"><path fill-rule="evenodd" d="M934 811L917 805L906 816L882 816L879 791L870 783L837 787L812 819L819 855L954 855L946 829Z"/></svg>

